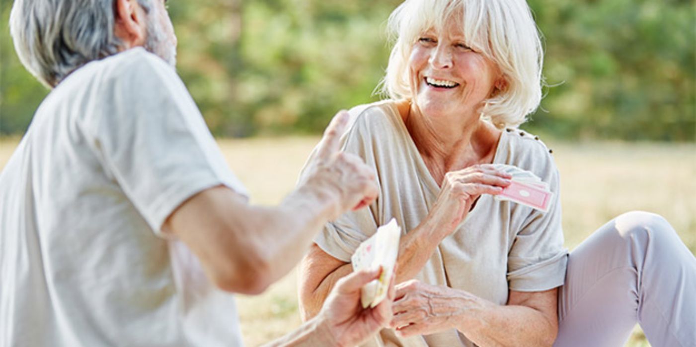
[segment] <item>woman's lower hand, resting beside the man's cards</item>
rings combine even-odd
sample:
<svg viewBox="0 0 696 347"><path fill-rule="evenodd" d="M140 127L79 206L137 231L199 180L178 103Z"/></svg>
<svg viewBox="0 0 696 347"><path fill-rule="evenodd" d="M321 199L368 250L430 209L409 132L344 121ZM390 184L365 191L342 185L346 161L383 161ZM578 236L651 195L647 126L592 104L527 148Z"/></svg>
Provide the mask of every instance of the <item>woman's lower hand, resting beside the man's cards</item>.
<svg viewBox="0 0 696 347"><path fill-rule="evenodd" d="M468 296L464 291L418 280L402 282L396 287L390 328L396 329L403 337L455 328L468 309Z"/></svg>

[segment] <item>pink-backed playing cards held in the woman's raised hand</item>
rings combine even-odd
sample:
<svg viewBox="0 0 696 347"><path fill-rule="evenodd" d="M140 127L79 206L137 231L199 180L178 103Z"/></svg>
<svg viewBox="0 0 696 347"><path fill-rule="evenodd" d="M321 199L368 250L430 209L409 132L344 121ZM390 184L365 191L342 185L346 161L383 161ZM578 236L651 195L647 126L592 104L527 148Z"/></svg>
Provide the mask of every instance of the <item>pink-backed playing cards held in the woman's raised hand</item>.
<svg viewBox="0 0 696 347"><path fill-rule="evenodd" d="M548 183L531 171L520 169L507 164L493 164L493 167L512 175L512 184L505 187L503 192L495 196L498 201L512 201L521 205L548 212L553 201L553 192L548 189Z"/></svg>

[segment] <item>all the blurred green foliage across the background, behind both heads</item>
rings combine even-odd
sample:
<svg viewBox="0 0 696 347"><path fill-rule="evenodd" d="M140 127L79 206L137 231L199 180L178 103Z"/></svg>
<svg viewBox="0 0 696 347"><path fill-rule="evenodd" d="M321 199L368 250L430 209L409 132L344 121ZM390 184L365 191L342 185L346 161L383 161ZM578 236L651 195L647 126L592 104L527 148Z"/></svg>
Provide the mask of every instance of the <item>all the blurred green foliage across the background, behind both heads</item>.
<svg viewBox="0 0 696 347"><path fill-rule="evenodd" d="M47 93L19 65L1 0L0 134L22 133ZM400 1L170 1L178 71L216 135L317 133L372 95ZM558 137L696 139L693 1L529 0L545 35L541 109Z"/></svg>

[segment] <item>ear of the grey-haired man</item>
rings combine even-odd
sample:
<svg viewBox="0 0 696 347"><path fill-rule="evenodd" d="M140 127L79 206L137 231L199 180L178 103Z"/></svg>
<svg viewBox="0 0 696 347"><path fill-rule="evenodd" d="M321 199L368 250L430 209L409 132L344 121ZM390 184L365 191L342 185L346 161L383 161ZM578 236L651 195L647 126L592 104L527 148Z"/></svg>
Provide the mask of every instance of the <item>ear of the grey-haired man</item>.
<svg viewBox="0 0 696 347"><path fill-rule="evenodd" d="M123 42L123 48L145 44L147 23L145 22L145 10L141 8L137 0L115 0L113 33Z"/></svg>

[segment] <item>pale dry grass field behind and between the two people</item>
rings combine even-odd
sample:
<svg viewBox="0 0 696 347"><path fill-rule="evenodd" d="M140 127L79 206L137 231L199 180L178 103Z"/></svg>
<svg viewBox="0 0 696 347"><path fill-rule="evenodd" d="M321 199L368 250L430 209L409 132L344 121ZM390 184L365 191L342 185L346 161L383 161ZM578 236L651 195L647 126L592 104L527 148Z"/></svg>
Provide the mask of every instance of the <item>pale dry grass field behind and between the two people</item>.
<svg viewBox="0 0 696 347"><path fill-rule="evenodd" d="M248 187L252 203L278 203L294 186L315 137L221 139L230 166ZM0 167L17 139L0 140ZM696 252L696 145L554 143L561 173L563 228L571 250L612 217L630 210L663 215ZM261 296L238 296L247 346L258 346L300 324L296 274ZM636 329L627 346L648 346Z"/></svg>

